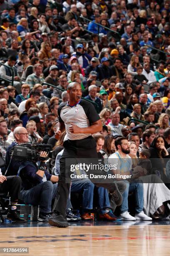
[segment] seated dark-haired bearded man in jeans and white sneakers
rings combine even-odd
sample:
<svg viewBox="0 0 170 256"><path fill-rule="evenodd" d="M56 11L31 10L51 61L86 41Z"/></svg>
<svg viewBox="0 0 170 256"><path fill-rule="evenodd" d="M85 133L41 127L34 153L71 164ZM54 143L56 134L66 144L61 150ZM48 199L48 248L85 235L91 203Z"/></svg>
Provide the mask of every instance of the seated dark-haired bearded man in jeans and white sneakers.
<svg viewBox="0 0 170 256"><path fill-rule="evenodd" d="M120 206L121 218L123 220L152 220L152 218L145 215L143 212L143 183L132 182L133 179L137 179L140 173L143 172L141 166L136 166L132 169L132 160L128 154L130 153L128 140L125 137L117 138L115 140L115 147L117 152L109 156L109 164L117 164L117 169L112 170L114 174L129 175L132 173L130 183L126 181L126 190L122 194L123 202ZM135 205L135 217L131 216L128 212L128 194L129 192L135 192L136 205Z"/></svg>

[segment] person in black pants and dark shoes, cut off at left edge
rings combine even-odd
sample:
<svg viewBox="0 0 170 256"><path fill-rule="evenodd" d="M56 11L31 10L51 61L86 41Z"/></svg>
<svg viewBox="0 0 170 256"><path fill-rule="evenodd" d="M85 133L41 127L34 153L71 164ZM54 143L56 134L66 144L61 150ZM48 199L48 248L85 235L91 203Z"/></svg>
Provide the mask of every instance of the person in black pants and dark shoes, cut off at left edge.
<svg viewBox="0 0 170 256"><path fill-rule="evenodd" d="M25 219L22 219L17 214L17 203L18 199L20 198L20 190L21 190L21 178L18 176L9 176L5 177L2 175L2 172L0 170L0 192L9 192L10 195L10 209L8 209L7 212L7 219L23 222L26 221Z"/></svg>

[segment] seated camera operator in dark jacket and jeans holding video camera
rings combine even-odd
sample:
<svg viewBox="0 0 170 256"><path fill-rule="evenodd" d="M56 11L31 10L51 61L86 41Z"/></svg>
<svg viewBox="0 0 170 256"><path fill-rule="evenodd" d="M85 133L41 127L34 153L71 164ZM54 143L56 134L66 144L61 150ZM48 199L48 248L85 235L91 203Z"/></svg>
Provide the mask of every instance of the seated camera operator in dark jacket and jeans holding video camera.
<svg viewBox="0 0 170 256"><path fill-rule="evenodd" d="M36 161L24 161L18 172L24 187L21 199L29 205L40 205L39 221L47 221L51 217L51 202L57 193L58 177L46 171L46 159L47 152L41 151L39 166Z"/></svg>

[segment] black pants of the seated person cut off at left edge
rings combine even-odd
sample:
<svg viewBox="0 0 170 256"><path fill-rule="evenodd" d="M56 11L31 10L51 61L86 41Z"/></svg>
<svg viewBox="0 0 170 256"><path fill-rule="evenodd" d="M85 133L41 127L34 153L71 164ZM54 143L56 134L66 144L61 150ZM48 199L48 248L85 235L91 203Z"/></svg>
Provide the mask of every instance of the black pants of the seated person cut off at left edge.
<svg viewBox="0 0 170 256"><path fill-rule="evenodd" d="M0 192L9 192L11 202L20 199L21 178L18 176L8 176L6 178L7 180L0 184Z"/></svg>

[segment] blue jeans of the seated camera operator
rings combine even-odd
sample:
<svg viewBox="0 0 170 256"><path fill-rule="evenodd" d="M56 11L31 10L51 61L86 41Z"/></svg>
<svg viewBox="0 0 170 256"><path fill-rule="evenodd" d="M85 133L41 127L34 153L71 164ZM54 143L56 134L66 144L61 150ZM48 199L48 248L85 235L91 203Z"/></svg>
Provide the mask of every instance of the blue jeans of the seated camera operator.
<svg viewBox="0 0 170 256"><path fill-rule="evenodd" d="M57 194L57 183L46 181L21 191L21 199L28 205L40 205L41 212L51 212L51 201ZM67 208L72 208L70 198L67 200Z"/></svg>

